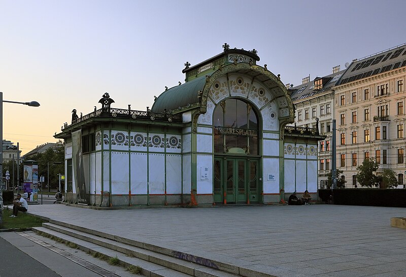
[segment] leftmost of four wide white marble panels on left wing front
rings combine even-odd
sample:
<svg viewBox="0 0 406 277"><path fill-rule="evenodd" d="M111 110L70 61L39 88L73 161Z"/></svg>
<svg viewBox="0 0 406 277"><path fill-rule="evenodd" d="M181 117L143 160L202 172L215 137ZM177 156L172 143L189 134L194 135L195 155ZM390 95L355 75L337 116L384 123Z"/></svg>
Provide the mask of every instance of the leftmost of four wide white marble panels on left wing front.
<svg viewBox="0 0 406 277"><path fill-rule="evenodd" d="M111 153L111 193L128 195L129 191L128 152Z"/></svg>

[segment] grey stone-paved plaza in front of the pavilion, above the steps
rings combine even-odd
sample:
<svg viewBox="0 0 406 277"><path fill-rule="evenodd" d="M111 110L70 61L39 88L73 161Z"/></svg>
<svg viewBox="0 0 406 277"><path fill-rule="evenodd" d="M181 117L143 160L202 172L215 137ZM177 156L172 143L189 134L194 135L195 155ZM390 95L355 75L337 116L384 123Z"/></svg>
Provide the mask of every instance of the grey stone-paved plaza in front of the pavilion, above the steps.
<svg viewBox="0 0 406 277"><path fill-rule="evenodd" d="M93 210L33 205L30 213L244 265L276 276L406 276L406 209L343 205Z"/></svg>

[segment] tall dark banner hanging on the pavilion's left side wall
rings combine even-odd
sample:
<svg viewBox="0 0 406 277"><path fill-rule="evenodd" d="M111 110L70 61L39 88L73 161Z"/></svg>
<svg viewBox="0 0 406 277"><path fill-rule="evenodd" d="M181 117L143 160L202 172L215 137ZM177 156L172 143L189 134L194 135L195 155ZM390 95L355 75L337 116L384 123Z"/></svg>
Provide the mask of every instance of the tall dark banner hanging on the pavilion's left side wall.
<svg viewBox="0 0 406 277"><path fill-rule="evenodd" d="M82 131L72 133L72 165L74 168L74 179L78 204L89 204L89 188L85 182L85 172L82 157Z"/></svg>

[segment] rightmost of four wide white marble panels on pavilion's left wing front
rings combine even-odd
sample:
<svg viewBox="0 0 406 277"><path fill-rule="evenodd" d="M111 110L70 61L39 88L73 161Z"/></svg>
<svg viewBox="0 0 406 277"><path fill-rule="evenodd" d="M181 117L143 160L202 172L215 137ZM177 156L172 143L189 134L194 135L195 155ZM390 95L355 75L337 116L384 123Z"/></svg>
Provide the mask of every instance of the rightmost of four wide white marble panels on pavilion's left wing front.
<svg viewBox="0 0 406 277"><path fill-rule="evenodd" d="M166 193L182 193L181 155L166 155Z"/></svg>

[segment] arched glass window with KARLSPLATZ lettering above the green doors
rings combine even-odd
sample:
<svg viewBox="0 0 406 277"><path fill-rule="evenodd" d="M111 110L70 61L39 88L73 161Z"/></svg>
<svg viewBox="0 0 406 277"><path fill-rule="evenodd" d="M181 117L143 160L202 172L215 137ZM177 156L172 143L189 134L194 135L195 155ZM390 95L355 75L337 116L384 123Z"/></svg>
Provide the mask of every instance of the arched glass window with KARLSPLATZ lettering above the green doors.
<svg viewBox="0 0 406 277"><path fill-rule="evenodd" d="M258 155L258 117L251 105L227 99L213 114L214 152Z"/></svg>

